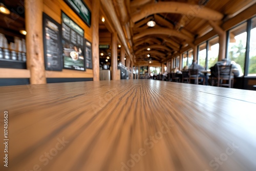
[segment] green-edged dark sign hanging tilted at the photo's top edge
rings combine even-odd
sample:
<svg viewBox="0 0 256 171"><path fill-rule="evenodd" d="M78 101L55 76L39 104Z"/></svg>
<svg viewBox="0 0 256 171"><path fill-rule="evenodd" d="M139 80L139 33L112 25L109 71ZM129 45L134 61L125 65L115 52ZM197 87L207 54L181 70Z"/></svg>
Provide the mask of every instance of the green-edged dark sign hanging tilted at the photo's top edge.
<svg viewBox="0 0 256 171"><path fill-rule="evenodd" d="M75 11L80 18L91 27L91 11L83 0L64 0Z"/></svg>

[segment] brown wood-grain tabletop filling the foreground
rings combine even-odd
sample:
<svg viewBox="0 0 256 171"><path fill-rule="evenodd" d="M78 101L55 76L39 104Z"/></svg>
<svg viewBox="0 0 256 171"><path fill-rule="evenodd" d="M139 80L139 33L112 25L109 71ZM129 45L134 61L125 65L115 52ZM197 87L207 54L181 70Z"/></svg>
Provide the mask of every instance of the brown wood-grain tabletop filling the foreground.
<svg viewBox="0 0 256 171"><path fill-rule="evenodd" d="M117 80L0 95L1 170L256 170L255 91Z"/></svg>

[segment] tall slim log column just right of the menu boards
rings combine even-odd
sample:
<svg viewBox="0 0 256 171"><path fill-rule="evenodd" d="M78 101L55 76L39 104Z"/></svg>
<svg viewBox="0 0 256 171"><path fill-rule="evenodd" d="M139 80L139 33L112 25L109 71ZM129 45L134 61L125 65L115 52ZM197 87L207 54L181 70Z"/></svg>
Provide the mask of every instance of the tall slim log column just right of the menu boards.
<svg viewBox="0 0 256 171"><path fill-rule="evenodd" d="M92 1L93 80L99 80L99 0Z"/></svg>

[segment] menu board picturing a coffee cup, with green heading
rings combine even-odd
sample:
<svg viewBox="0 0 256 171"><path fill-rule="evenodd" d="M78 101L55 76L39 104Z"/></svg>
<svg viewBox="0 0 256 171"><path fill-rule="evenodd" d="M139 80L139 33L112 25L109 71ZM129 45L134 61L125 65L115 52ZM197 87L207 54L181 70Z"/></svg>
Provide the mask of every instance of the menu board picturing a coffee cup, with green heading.
<svg viewBox="0 0 256 171"><path fill-rule="evenodd" d="M83 35L84 31L62 12L63 68L85 71Z"/></svg>

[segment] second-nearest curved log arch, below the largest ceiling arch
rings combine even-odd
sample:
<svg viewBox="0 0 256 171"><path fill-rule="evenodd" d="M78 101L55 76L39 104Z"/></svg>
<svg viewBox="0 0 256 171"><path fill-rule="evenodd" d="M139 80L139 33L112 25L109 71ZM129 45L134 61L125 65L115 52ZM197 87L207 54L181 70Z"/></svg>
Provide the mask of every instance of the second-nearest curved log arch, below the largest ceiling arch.
<svg viewBox="0 0 256 171"><path fill-rule="evenodd" d="M175 36L175 37L179 37L182 39L185 39L188 42L192 42L193 38L190 38L182 33L177 32L177 30L172 30L172 29L166 29L166 28L162 28L162 29L148 29L145 30L144 32L141 32L139 34L136 34L133 36L133 40L137 40L141 37L144 37L146 35L152 35L152 34L162 34L162 35L169 35L169 36Z"/></svg>

